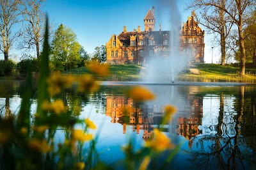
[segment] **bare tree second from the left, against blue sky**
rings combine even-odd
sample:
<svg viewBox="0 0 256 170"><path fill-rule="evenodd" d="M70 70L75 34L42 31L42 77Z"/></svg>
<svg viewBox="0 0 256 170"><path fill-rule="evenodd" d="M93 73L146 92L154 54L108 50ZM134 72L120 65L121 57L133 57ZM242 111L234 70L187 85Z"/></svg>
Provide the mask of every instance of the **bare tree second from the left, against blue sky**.
<svg viewBox="0 0 256 170"><path fill-rule="evenodd" d="M36 57L40 56L40 45L44 40L45 14L42 12L42 4L45 0L22 0L20 1L22 14L25 22L22 30L22 41L19 43L20 49L36 48Z"/></svg>

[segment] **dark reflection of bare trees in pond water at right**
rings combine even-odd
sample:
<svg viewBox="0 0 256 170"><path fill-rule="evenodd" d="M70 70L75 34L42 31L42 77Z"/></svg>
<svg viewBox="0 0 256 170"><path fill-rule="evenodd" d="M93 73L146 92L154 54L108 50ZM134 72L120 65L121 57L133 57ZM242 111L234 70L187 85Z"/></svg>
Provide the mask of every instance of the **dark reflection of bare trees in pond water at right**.
<svg viewBox="0 0 256 170"><path fill-rule="evenodd" d="M245 95L244 86L239 87L235 112L225 111L224 98L221 93L217 125L207 127L212 133L196 136L196 148L184 150L191 156L189 169L247 169L256 163L255 94Z"/></svg>

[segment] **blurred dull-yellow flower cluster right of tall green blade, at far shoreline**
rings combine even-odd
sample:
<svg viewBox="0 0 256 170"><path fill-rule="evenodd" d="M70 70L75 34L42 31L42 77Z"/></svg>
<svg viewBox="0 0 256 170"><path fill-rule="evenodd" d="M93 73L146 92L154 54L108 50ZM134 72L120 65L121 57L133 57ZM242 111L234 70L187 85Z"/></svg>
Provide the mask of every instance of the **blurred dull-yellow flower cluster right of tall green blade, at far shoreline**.
<svg viewBox="0 0 256 170"><path fill-rule="evenodd" d="M48 79L48 91L52 93L52 95L56 95L60 93L63 88L70 88L74 80L72 75L61 75L60 72L52 73L51 77Z"/></svg>

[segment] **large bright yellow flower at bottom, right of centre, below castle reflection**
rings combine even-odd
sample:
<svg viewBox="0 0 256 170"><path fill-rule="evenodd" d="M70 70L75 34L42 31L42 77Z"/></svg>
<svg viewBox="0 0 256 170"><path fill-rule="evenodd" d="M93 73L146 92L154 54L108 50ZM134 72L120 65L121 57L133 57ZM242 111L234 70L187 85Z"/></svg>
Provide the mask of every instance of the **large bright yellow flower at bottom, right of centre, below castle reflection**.
<svg viewBox="0 0 256 170"><path fill-rule="evenodd" d="M157 152L173 148L171 140L157 128L154 128L154 139L152 141L145 141L145 146Z"/></svg>

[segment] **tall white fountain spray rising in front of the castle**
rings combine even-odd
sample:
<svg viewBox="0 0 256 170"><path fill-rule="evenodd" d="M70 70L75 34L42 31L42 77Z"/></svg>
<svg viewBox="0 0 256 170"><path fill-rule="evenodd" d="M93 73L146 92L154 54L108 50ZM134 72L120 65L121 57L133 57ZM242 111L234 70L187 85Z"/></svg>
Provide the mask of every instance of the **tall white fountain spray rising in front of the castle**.
<svg viewBox="0 0 256 170"><path fill-rule="evenodd" d="M186 68L189 56L179 50L180 12L176 1L157 1L158 12L168 13L170 22L170 53L168 56L154 56L143 65L142 81L145 83L170 83L175 82L177 75Z"/></svg>

